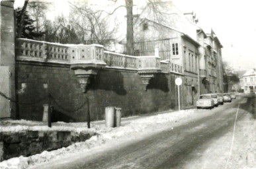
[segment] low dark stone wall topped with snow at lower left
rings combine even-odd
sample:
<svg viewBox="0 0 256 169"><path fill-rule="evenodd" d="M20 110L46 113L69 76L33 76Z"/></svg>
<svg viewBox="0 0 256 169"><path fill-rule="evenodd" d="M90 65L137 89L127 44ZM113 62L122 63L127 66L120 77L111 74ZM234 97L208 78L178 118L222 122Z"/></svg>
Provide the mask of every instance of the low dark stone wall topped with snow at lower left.
<svg viewBox="0 0 256 169"><path fill-rule="evenodd" d="M81 131L5 131L0 132L1 161L17 156L30 156L43 151L52 151L81 141L95 133Z"/></svg>

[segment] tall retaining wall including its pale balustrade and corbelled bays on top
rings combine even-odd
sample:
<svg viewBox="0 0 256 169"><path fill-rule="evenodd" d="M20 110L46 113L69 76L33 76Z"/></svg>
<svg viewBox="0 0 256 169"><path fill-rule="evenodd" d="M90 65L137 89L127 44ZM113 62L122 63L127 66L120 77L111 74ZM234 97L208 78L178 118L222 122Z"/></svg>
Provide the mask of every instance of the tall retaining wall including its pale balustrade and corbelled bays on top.
<svg viewBox="0 0 256 169"><path fill-rule="evenodd" d="M183 69L160 61L157 48L155 55L135 57L97 44L18 39L16 54L21 119L42 121L48 93L53 121L87 121L87 98L91 120L104 119L107 106L122 108L122 117L177 106L174 81Z"/></svg>

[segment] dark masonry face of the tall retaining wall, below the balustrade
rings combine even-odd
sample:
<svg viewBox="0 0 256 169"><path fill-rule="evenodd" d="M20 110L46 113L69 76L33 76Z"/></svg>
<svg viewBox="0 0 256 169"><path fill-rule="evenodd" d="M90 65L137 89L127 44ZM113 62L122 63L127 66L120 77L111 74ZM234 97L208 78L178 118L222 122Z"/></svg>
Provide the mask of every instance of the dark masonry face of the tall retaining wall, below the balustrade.
<svg viewBox="0 0 256 169"><path fill-rule="evenodd" d="M74 71L67 65L19 61L17 72L19 101L24 103L19 106L21 119L42 121L43 104L48 104L48 98L36 104L25 103L36 102L47 96L48 92L56 101L52 101L54 121L86 121L87 97L91 120L104 119L107 106L122 108L122 117L159 112L177 106L174 81L180 75L174 73L157 73L145 91L136 71L100 69L84 93ZM48 88L44 88L46 83ZM22 88L22 84L26 87ZM81 109L73 111L77 108Z"/></svg>

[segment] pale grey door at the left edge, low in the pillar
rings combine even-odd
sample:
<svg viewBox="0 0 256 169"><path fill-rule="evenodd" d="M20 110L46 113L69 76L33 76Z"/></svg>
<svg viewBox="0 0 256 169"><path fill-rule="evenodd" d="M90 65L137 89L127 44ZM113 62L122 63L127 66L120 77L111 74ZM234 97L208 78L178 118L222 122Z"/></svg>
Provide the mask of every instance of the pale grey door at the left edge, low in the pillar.
<svg viewBox="0 0 256 169"><path fill-rule="evenodd" d="M0 92L10 97L9 66L0 66ZM0 95L0 118L10 117L10 101Z"/></svg>

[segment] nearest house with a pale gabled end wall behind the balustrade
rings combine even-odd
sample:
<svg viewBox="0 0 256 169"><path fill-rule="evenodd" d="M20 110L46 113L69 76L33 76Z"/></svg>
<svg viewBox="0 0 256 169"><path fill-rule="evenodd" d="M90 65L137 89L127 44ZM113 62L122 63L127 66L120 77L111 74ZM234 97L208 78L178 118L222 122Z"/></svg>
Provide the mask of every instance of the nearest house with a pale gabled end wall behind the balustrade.
<svg viewBox="0 0 256 169"><path fill-rule="evenodd" d="M184 106L194 105L199 95L198 47L200 44L189 35L169 26L142 19L136 22L134 50L136 55L151 55L155 47L162 61L170 61L183 67Z"/></svg>

